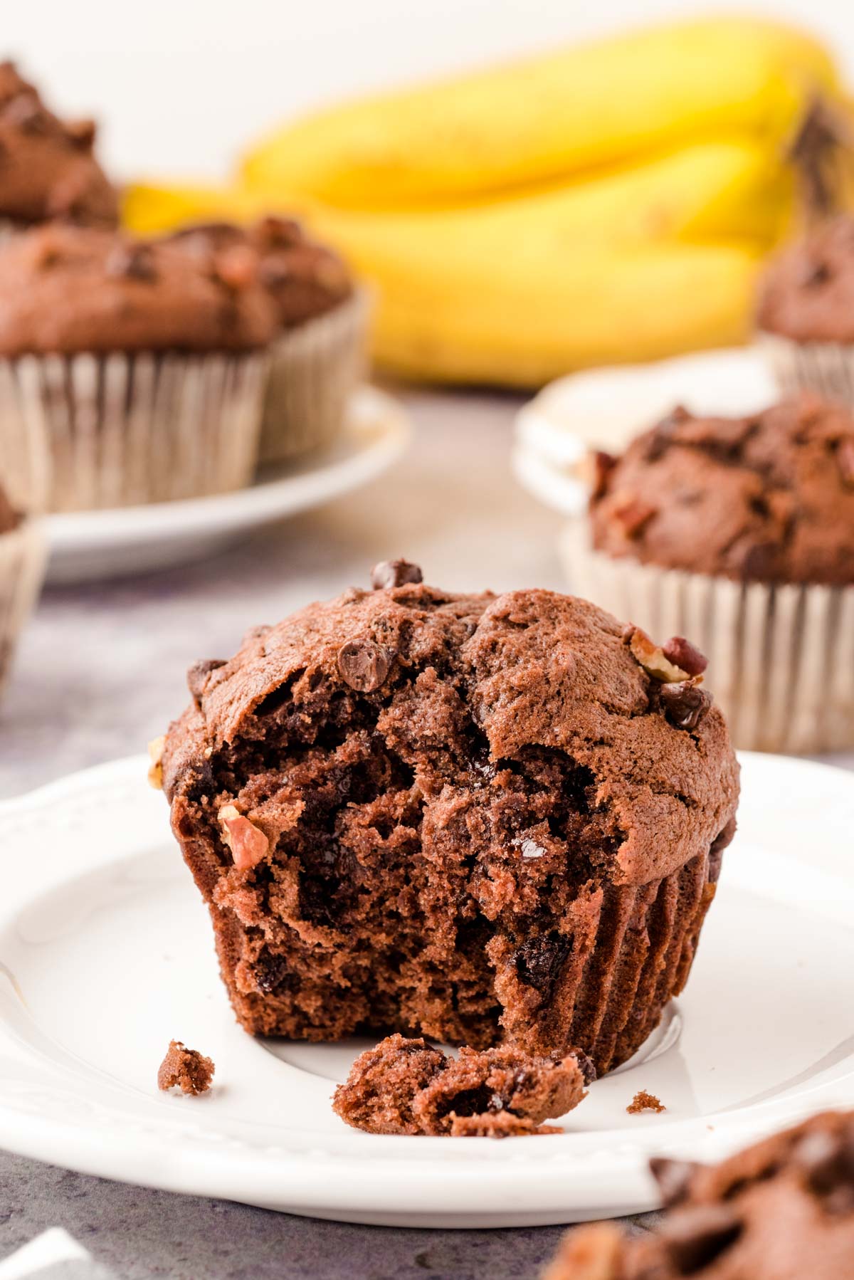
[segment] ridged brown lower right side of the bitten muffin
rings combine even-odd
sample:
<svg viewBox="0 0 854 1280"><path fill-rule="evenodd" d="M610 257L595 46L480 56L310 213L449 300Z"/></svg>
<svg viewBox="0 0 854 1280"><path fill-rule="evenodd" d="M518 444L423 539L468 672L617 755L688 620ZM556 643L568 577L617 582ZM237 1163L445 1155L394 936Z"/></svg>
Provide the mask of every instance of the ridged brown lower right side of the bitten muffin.
<svg viewBox="0 0 854 1280"><path fill-rule="evenodd" d="M531 1053L576 1044L598 1074L625 1062L658 1025L690 973L714 886L708 854L648 884L606 884L561 924L561 977L539 1006L516 972L515 943L489 945L506 1038Z"/></svg>

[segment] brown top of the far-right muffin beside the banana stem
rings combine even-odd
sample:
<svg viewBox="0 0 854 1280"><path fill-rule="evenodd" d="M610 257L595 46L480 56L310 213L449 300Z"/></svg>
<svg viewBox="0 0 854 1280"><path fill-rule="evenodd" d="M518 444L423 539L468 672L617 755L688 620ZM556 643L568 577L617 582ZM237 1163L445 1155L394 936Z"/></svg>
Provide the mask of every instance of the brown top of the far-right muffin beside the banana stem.
<svg viewBox="0 0 854 1280"><path fill-rule="evenodd" d="M777 253L757 323L794 342L854 342L854 215L839 214Z"/></svg>

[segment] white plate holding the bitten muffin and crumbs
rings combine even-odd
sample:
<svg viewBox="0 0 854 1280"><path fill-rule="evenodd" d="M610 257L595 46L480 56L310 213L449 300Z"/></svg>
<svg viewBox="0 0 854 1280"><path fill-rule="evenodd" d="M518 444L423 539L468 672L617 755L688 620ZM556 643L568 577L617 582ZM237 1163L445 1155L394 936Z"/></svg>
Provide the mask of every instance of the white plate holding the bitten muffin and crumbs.
<svg viewBox="0 0 854 1280"><path fill-rule="evenodd" d="M124 1181L411 1226L568 1222L650 1208L650 1152L713 1158L854 1105L854 777L748 755L740 833L686 993L552 1138L348 1129L348 1044L251 1039L206 911L134 758L0 806L0 1142ZM157 1093L174 1037L201 1098ZM626 1115L638 1089L667 1106Z"/></svg>

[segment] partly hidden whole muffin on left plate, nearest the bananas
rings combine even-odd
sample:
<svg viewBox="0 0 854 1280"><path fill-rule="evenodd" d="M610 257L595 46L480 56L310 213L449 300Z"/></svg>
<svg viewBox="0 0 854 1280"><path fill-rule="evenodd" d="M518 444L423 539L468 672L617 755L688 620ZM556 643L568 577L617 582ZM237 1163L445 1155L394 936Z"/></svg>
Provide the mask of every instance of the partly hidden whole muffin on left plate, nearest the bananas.
<svg viewBox="0 0 854 1280"><path fill-rule="evenodd" d="M330 445L362 376L367 324L366 297L339 255L287 218L264 218L246 229L232 223L186 227L174 239L202 257L236 246L257 255L259 279L278 315L261 461L283 462Z"/></svg>

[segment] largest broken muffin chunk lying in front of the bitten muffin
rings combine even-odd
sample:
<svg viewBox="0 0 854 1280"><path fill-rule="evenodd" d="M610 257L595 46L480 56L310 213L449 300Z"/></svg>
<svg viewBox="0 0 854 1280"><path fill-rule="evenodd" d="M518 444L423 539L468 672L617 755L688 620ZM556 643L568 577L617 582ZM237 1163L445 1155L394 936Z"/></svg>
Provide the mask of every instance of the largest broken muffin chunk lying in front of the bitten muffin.
<svg viewBox="0 0 854 1280"><path fill-rule="evenodd" d="M447 1057L424 1039L389 1036L353 1062L333 1110L355 1129L385 1134L507 1138L539 1129L585 1096L593 1064L579 1052L536 1057L463 1047Z"/></svg>

